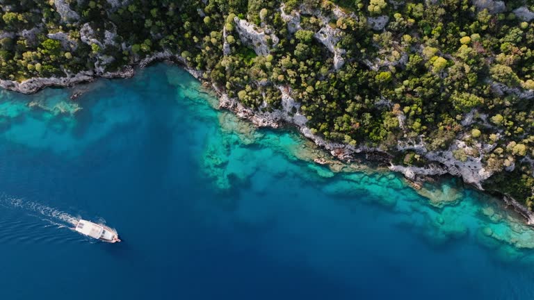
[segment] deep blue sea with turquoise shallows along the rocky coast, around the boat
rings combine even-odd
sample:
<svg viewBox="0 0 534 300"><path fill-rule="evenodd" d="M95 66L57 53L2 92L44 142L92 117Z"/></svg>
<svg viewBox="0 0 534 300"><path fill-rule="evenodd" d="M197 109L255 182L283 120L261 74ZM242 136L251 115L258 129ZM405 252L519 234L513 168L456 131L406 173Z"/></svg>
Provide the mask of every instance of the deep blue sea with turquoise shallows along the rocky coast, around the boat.
<svg viewBox="0 0 534 300"><path fill-rule="evenodd" d="M74 89L0 92L0 299L534 299L533 231L454 179L318 165L172 65Z"/></svg>

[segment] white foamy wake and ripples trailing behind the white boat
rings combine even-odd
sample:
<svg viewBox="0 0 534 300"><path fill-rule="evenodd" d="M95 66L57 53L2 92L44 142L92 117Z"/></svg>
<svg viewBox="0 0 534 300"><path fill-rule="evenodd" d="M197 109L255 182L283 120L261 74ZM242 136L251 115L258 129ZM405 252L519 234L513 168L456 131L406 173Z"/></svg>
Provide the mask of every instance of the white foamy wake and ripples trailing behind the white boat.
<svg viewBox="0 0 534 300"><path fill-rule="evenodd" d="M65 242L80 240L72 235L73 227L81 217L74 217L62 210L41 203L0 194L0 206L8 210L0 221L0 243ZM35 222L35 218L41 222ZM67 228L69 231L58 233L50 228ZM62 234L68 233L68 234Z"/></svg>

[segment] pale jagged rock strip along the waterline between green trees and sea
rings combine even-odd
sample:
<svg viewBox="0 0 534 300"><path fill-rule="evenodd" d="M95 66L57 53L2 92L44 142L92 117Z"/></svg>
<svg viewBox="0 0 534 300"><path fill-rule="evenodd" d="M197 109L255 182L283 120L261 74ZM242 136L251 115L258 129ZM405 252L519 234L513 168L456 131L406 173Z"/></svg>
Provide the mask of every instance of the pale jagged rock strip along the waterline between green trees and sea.
<svg viewBox="0 0 534 300"><path fill-rule="evenodd" d="M179 55L170 53L169 51L163 51L155 53L152 56L136 60L135 63L127 65L122 70L118 72L96 72L96 71L84 71L79 72L68 77L50 77L50 78L30 78L26 81L20 83L16 81L9 80L0 80L0 88L5 90L11 90L14 92L20 92L22 94L33 94L47 87L72 87L79 83L88 83L95 81L96 78L131 78L135 75L135 70L133 67L138 66L141 69L147 67L151 63L156 61L167 60L172 63L177 63L184 67L188 73L197 78L197 80L202 81L204 85L208 85L211 89L218 94L219 98L219 108L229 110L232 113L236 114L241 119L247 119L252 122L254 126L257 127L270 127L270 128L280 128L282 126L293 126L298 129L302 135L304 135L309 140L312 140L318 147L326 149L330 152L335 158L350 163L355 160L355 156L358 154L364 154L367 160L376 161L382 165L387 165L389 169L393 172L400 172L405 176L405 178L410 181L414 188L420 187L422 183L427 181L430 178L437 176L443 176L445 174L450 174L452 176L458 176L462 178L464 183L482 190L480 183L473 178L466 178L471 175L473 168L469 166L467 171L467 176L465 170L462 170L458 165L445 165L443 159L431 160L430 163L424 167L407 167L403 165L394 165L391 163L391 158L393 155L387 151L383 151L378 148L371 147L353 147L348 144L327 142L318 135L314 135L310 129L305 125L307 119L305 116L300 115L300 113L290 113L292 109L300 108L300 105L291 97L291 88L285 86L279 86L280 92L282 92L282 109L275 110L273 112L261 112L259 110L252 110L246 108L241 104L237 99L229 97L223 88L220 88L213 83L206 81L203 77L202 71L188 67L187 60ZM73 94L72 99L79 97L80 94ZM430 157L436 156L435 153L429 153ZM471 172L471 173L469 173ZM478 179L478 178L475 178ZM507 206L511 206L519 215L524 217L526 224L534 224L534 213L528 210L521 203L508 197L507 195L501 195L503 201L505 201Z"/></svg>

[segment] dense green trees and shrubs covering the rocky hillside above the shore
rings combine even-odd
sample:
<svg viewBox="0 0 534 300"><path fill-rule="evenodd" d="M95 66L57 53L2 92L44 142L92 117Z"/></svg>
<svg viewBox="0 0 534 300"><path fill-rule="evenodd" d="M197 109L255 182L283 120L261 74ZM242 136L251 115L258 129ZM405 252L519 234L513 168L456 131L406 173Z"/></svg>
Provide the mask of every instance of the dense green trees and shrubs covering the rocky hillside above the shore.
<svg viewBox="0 0 534 300"><path fill-rule="evenodd" d="M534 1L499 2L3 0L0 78L114 71L168 50L251 108L281 108L278 86L291 87L327 140L401 151L404 165L424 160L414 144L481 160L486 188L532 208ZM297 12L292 28L283 15ZM278 41L254 51L236 17ZM320 30L343 50L339 69Z"/></svg>

